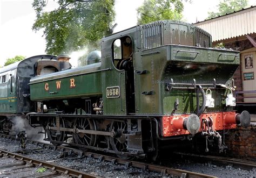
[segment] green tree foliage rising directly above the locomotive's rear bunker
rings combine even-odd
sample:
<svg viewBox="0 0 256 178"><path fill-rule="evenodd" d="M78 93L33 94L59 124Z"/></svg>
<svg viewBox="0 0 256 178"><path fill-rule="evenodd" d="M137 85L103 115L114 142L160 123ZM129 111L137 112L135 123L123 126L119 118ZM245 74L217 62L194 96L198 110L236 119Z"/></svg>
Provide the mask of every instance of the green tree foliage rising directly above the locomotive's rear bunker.
<svg viewBox="0 0 256 178"><path fill-rule="evenodd" d="M156 20L180 20L183 11L181 0L145 0L137 9L138 24L147 24Z"/></svg>

